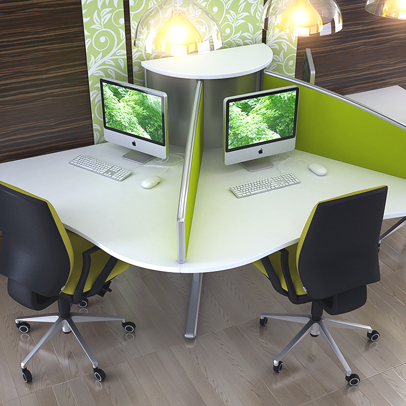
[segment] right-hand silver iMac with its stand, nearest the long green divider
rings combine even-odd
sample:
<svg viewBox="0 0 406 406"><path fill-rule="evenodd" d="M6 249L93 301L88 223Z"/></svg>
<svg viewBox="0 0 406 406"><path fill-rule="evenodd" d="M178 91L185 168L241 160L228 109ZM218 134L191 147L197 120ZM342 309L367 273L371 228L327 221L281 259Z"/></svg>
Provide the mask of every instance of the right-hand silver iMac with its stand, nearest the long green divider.
<svg viewBox="0 0 406 406"><path fill-rule="evenodd" d="M254 172L273 166L268 156L292 151L298 101L296 86L225 98L224 163L241 163Z"/></svg>

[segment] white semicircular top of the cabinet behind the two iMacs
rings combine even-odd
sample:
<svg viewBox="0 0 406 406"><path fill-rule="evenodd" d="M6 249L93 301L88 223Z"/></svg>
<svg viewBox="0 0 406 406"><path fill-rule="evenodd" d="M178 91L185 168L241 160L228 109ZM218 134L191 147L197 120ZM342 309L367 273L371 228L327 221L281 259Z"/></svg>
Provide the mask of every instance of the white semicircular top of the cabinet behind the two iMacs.
<svg viewBox="0 0 406 406"><path fill-rule="evenodd" d="M224 48L199 55L172 56L142 61L148 71L183 79L226 79L264 69L273 52L265 44Z"/></svg>

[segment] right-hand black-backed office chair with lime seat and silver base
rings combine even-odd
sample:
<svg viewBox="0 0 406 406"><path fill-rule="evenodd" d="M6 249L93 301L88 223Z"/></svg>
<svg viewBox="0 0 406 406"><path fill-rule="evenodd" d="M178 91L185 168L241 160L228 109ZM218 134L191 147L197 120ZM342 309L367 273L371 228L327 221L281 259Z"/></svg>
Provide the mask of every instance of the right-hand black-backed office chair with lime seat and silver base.
<svg viewBox="0 0 406 406"><path fill-rule="evenodd" d="M380 280L378 242L387 189L382 186L319 202L297 244L254 262L292 303L312 302L310 315L260 315L261 325L268 318L305 324L275 358L276 372L282 370L283 356L308 332L313 337L321 333L343 364L347 382L358 385L358 375L352 374L327 327L367 330L370 341L377 341L380 334L370 326L324 317L323 311L337 315L358 309L366 302L366 285Z"/></svg>

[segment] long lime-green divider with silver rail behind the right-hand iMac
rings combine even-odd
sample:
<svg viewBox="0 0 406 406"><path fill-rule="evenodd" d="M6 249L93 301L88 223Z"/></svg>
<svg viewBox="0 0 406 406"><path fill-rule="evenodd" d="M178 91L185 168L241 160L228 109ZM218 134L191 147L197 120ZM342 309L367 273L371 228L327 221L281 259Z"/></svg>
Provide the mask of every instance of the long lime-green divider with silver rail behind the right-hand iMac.
<svg viewBox="0 0 406 406"><path fill-rule="evenodd" d="M406 126L345 96L265 71L264 89L296 85L296 149L406 179Z"/></svg>

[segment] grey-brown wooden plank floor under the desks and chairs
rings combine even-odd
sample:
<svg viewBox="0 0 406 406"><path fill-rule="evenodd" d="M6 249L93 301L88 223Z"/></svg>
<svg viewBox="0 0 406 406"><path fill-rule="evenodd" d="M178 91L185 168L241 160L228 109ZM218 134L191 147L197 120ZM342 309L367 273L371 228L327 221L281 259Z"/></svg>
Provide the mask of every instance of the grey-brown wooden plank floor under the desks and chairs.
<svg viewBox="0 0 406 406"><path fill-rule="evenodd" d="M393 224L385 221L383 229ZM14 318L32 311L7 294L0 280L0 403L7 406L404 406L406 404L406 227L382 244L379 283L368 301L343 319L369 324L376 343L347 329L330 331L361 382L349 387L345 371L320 335L306 336L284 357L273 358L299 325L272 321L261 312L310 312L274 291L253 265L206 274L197 339L184 339L190 275L131 267L113 292L90 298L89 313L124 315L137 324L125 334L119 322L84 323L80 330L107 374L95 381L91 363L73 334L57 333L29 363L33 381L22 380L20 362L45 332L32 323L20 334ZM55 311L54 308L52 311ZM82 311L83 311L82 310ZM48 310L49 311L49 310Z"/></svg>

